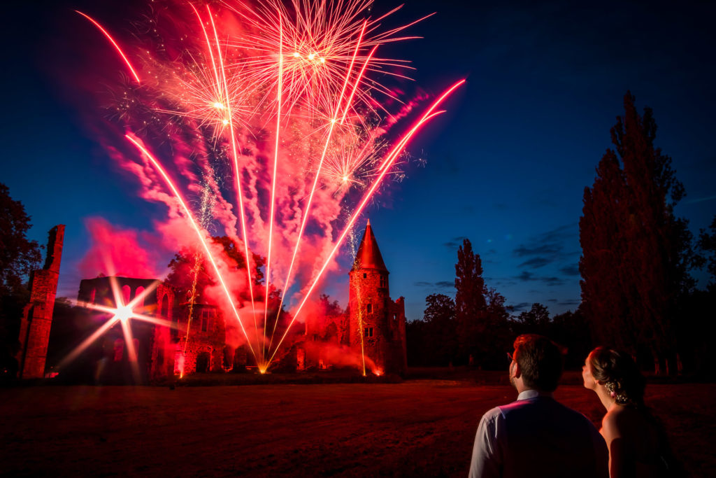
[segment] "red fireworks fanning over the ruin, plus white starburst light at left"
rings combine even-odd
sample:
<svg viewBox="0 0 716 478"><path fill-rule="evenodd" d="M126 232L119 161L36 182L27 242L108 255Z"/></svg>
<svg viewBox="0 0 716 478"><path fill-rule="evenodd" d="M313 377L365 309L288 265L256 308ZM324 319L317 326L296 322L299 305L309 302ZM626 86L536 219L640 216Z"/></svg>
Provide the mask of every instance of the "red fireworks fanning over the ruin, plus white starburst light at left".
<svg viewBox="0 0 716 478"><path fill-rule="evenodd" d="M115 108L140 162L127 152L120 163L138 176L143 197L163 202L170 219L189 226L191 234L175 242L211 264L221 286L214 299L238 322L263 372L355 221L395 173L397 158L463 82L396 137L390 129L415 107L379 82L410 69L405 60L380 55L382 44L410 38L398 35L412 24L380 29L397 9L373 18L369 0L170 6L168 24L182 39L178 53L168 58L140 45L133 51L143 53L131 62L100 23L78 13L105 34L139 83L118 95ZM162 24L155 20L158 36ZM211 211L204 197L198 221L185 197L210 190ZM243 278L228 274L210 247L210 226L241 244ZM252 274L253 253L266 257L263 282ZM145 320L116 303L112 319L92 337L116 322L130 334L130 318ZM284 305L291 320L279 328Z"/></svg>

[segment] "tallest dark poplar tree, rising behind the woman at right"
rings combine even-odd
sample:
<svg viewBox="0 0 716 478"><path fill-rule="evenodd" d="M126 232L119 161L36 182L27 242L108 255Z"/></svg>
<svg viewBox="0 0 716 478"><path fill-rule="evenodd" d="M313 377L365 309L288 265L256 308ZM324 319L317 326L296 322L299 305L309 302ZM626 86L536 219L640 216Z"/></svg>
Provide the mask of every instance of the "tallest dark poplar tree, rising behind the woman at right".
<svg viewBox="0 0 716 478"><path fill-rule="evenodd" d="M648 350L654 368L666 371L677 353L677 300L693 287L693 254L687 221L674 216L684 187L671 158L654 147L656 131L652 110L640 116L627 92L624 116L611 128L616 150L606 151L584 191L579 270L581 309L597 342L634 355Z"/></svg>

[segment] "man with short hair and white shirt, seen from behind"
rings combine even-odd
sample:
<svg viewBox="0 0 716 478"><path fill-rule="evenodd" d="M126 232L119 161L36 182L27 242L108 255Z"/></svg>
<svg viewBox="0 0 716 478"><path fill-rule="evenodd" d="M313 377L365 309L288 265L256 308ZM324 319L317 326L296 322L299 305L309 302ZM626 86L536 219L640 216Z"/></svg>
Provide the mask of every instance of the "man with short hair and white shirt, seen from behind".
<svg viewBox="0 0 716 478"><path fill-rule="evenodd" d="M517 401L488 411L473 446L470 478L609 478L604 439L584 415L552 398L562 353L546 337L520 335L508 356Z"/></svg>

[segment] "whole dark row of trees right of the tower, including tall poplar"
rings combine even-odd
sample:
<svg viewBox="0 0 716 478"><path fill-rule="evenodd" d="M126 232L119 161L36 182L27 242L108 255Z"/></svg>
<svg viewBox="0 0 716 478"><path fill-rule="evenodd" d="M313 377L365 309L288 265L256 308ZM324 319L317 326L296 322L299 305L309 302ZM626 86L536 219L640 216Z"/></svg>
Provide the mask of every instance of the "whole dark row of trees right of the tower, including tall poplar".
<svg viewBox="0 0 716 478"><path fill-rule="evenodd" d="M485 286L480 256L468 240L458 250L455 298L426 298L422 320L407 325L410 365L505 368L505 351L521 333L541 333L569 349L567 366L581 365L596 345L624 350L645 371L713 376L706 362L716 332L716 216L694 237L674 214L685 196L672 159L654 146L652 110L639 115L624 97L611 128L614 150L596 167L579 219L581 304L550 317L547 308L514 315ZM707 268L704 290L692 277Z"/></svg>

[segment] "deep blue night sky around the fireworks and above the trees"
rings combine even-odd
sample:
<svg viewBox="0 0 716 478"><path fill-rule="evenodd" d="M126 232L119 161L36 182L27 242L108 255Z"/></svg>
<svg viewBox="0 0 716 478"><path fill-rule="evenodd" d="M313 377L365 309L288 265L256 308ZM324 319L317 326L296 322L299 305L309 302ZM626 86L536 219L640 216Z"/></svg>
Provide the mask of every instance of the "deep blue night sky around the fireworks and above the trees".
<svg viewBox="0 0 716 478"><path fill-rule="evenodd" d="M67 225L59 295L76 297L85 278L77 263L89 245L85 219L145 230L157 209L137 198L135 181L118 174L92 138L73 104L77 95L57 85L58 67L66 64L62 73L71 76L83 55L63 35L84 29L88 45L104 42L74 8L117 28L132 13L98 1L15 3L22 5L4 6L0 32L0 181L32 216L32 239L44 244L52 226ZM414 62L422 90L468 79L446 103L448 114L412 143L413 158L425 165L408 164L405 181L364 214L408 320L422 317L426 295L454 295L465 237L483 259L488 286L516 312L532 302L552 313L576 309L582 195L610 147L627 90L639 110L653 108L656 144L684 183L677 214L697 232L716 213L716 5L499 3L410 1L393 20L437 11L410 30L423 39L390 49ZM395 5L379 1L374 10ZM697 277L704 285L705 274ZM323 289L345 305L347 277L332 280Z"/></svg>

